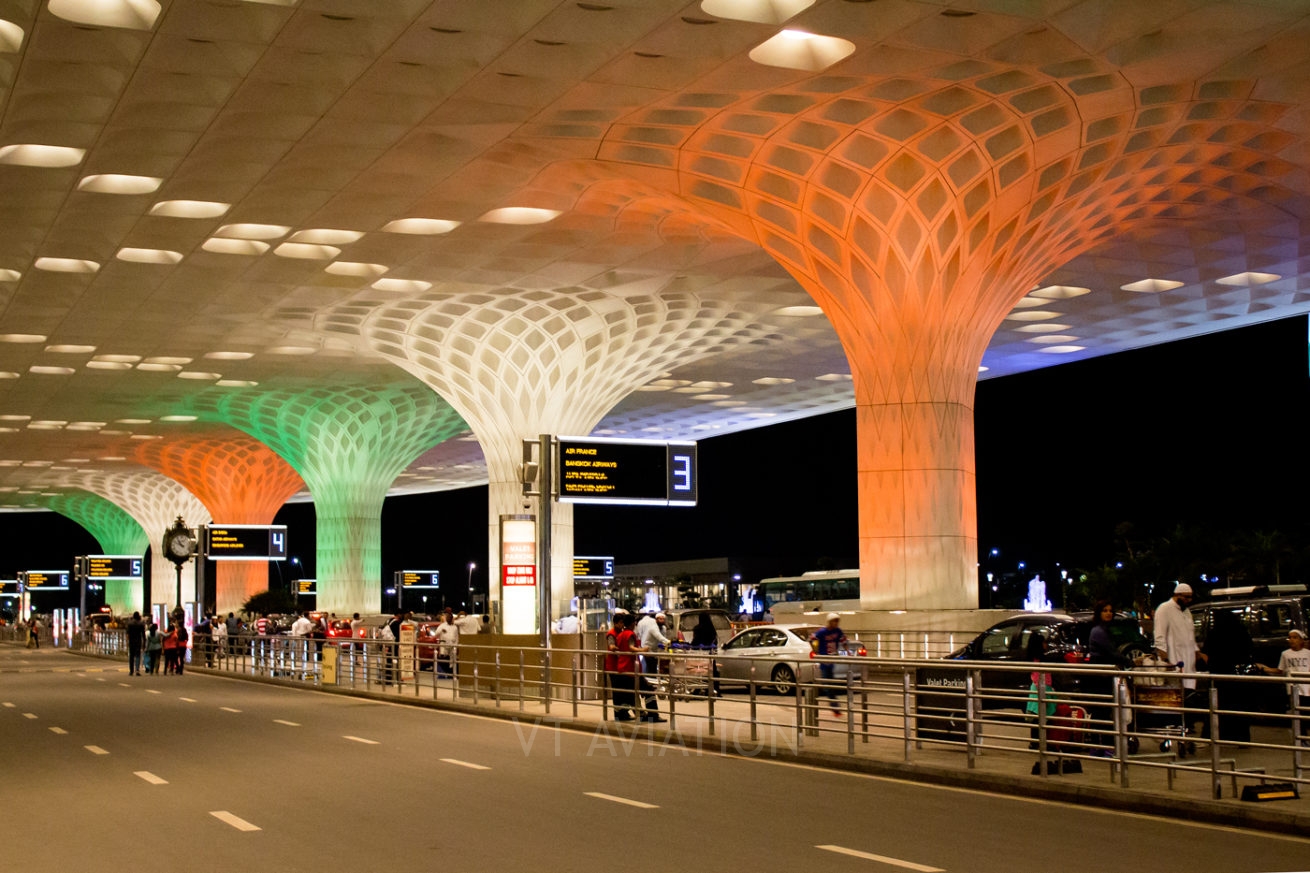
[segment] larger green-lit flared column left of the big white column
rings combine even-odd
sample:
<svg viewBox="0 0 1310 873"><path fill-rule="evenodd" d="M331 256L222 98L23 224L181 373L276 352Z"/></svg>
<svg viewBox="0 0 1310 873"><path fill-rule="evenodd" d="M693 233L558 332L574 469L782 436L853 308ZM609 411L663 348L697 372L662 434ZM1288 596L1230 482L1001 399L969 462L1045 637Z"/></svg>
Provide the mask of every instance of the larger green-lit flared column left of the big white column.
<svg viewBox="0 0 1310 873"><path fill-rule="evenodd" d="M394 371L393 371L394 372ZM381 608L383 498L418 455L468 430L436 395L406 378L377 387L282 388L195 400L280 455L314 498L318 608Z"/></svg>

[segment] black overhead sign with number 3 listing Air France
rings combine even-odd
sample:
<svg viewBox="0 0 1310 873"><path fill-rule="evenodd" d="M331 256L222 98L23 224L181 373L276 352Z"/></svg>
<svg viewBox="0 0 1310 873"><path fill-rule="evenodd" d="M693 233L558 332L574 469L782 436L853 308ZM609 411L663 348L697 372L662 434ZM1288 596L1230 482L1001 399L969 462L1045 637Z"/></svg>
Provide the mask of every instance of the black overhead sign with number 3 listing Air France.
<svg viewBox="0 0 1310 873"><path fill-rule="evenodd" d="M696 443L561 436L558 446L561 502L696 506Z"/></svg>

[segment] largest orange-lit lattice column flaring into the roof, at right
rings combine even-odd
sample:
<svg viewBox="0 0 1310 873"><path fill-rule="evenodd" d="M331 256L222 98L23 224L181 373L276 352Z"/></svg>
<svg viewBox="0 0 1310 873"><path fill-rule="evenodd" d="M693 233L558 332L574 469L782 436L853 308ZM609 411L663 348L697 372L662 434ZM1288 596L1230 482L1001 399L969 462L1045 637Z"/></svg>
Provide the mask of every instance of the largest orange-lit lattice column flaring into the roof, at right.
<svg viewBox="0 0 1310 873"><path fill-rule="evenodd" d="M967 607L988 340L1040 277L1112 236L1251 215L1255 199L1292 208L1284 107L1251 93L1242 81L1134 90L1091 60L952 62L673 98L613 125L599 153L676 172L684 197L819 301L855 387L862 596Z"/></svg>

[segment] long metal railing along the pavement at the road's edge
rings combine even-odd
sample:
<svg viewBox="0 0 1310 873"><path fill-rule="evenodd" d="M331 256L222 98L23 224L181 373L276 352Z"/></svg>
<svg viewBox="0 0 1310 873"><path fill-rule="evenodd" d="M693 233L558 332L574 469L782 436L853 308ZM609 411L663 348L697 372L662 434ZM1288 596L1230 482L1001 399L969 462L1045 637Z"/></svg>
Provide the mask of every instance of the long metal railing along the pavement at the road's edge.
<svg viewBox="0 0 1310 873"><path fill-rule="evenodd" d="M81 646L113 657L127 651L121 630L98 632ZM1013 771L1015 763L1026 768L1031 762L1030 772L1043 779L1103 766L1104 777L1125 790L1182 785L1221 798L1225 785L1237 796L1250 784L1310 784L1310 700L1297 687L1303 678L1210 682L1209 674L874 657L646 657L654 667L637 674L635 688L633 679L604 671L604 651L481 640L461 641L447 662L436 646L409 642L200 637L190 663L279 682L510 708L536 718L593 721L605 731L630 730L612 725L625 707L633 707L633 714L654 707L669 731L694 735L698 743L731 738L751 748L768 743L777 751L817 748L907 763L954 762L971 769ZM779 674L779 665L787 672ZM1051 686L1027 682L1034 671L1049 675ZM1184 692L1184 680L1196 680L1201 691ZM1233 708L1226 701L1231 688L1275 696L1281 689L1290 709ZM627 699L631 693L634 700ZM1238 720L1255 722L1259 738L1225 737L1227 724ZM634 725L643 729L639 721ZM1086 777L1094 776L1089 771Z"/></svg>

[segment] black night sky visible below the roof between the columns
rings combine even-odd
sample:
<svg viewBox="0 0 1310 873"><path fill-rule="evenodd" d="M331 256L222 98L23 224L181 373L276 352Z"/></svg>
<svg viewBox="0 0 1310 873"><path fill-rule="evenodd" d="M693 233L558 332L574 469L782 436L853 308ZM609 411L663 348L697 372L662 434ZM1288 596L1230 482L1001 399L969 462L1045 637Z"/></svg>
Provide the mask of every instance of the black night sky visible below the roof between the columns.
<svg viewBox="0 0 1310 873"><path fill-rule="evenodd" d="M979 544L1007 560L1090 565L1108 557L1120 522L1144 534L1310 523L1305 317L982 381L975 417ZM578 506L575 552L620 564L734 557L752 575L858 565L854 412L705 439L700 465L694 509ZM473 561L485 591L486 494L388 499L384 577L438 569L462 590ZM312 506L275 520L312 574ZM100 551L54 514L0 515L0 578Z"/></svg>

